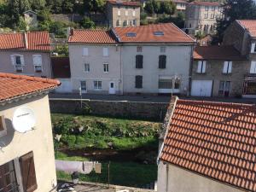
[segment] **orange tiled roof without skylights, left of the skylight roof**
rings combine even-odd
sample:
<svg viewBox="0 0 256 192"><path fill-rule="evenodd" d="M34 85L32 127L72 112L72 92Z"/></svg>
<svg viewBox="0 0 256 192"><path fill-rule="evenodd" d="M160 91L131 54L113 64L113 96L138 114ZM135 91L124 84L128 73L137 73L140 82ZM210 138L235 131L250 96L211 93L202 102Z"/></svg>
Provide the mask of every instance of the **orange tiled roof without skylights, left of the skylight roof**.
<svg viewBox="0 0 256 192"><path fill-rule="evenodd" d="M104 30L73 30L68 38L69 44L116 44L109 31Z"/></svg>

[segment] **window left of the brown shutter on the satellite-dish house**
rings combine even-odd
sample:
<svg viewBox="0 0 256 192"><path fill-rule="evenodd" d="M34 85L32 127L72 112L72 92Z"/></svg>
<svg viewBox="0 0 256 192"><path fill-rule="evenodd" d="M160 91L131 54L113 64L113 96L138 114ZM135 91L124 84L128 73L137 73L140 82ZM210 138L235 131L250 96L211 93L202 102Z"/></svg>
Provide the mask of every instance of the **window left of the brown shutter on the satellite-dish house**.
<svg viewBox="0 0 256 192"><path fill-rule="evenodd" d="M0 166L0 191L1 192L18 192L19 185L15 174L15 163L13 160Z"/></svg>

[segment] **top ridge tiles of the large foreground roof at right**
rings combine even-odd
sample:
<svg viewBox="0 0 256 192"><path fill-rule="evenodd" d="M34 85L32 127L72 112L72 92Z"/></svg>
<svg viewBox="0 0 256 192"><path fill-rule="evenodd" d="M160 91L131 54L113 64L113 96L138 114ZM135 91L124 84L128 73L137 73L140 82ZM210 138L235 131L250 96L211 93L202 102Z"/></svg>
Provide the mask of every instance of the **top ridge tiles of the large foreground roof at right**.
<svg viewBox="0 0 256 192"><path fill-rule="evenodd" d="M211 104L211 105L222 105L222 106L236 106L236 107L253 107L256 108L255 104L247 104L247 103L238 103L238 102L213 102L213 101L205 101L205 100L188 100L188 99L179 99L177 102L185 102L185 103L197 103L197 104Z"/></svg>

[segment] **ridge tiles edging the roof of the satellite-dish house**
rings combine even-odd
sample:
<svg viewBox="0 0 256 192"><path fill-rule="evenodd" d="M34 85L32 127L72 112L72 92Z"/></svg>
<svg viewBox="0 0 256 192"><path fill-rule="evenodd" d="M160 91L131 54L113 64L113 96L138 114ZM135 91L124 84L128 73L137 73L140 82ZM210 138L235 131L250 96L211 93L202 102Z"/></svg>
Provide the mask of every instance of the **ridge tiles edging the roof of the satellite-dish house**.
<svg viewBox="0 0 256 192"><path fill-rule="evenodd" d="M38 81L38 82L56 84L56 85L61 84L61 82L58 79L31 77L27 75L18 75L13 73L0 73L0 77L11 78L11 79L25 79L25 80Z"/></svg>

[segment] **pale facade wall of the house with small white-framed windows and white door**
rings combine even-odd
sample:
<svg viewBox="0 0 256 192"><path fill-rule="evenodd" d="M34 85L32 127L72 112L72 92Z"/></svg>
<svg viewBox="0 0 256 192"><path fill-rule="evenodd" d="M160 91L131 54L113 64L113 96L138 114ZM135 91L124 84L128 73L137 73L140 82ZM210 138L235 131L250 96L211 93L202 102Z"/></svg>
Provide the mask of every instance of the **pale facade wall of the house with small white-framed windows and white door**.
<svg viewBox="0 0 256 192"><path fill-rule="evenodd" d="M117 94L122 93L120 47L115 44L69 44L71 82L73 91L79 91L80 81L86 81L88 93L108 94L109 83L114 82ZM89 55L83 56L87 47ZM108 47L109 56L103 56L103 48ZM108 62L109 72L103 72L103 63ZM84 71L84 63L90 63L90 72ZM102 90L94 90L93 81L102 81Z"/></svg>

